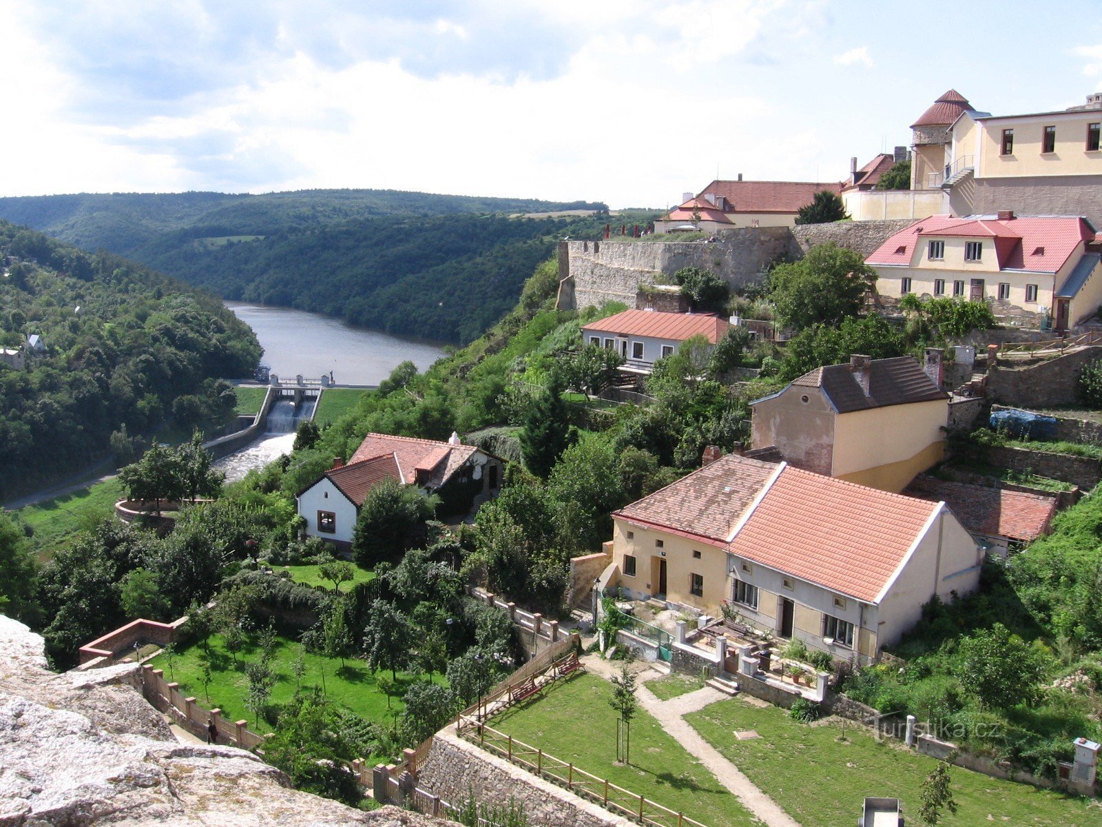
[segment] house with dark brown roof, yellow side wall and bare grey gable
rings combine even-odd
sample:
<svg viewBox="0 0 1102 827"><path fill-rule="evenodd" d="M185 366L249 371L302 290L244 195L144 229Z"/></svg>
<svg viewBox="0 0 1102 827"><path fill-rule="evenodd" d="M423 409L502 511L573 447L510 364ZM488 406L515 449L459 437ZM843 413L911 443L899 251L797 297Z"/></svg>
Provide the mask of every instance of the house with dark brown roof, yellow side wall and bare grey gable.
<svg viewBox="0 0 1102 827"><path fill-rule="evenodd" d="M854 355L750 406L753 449L861 485L903 491L944 454L949 395L910 356Z"/></svg>

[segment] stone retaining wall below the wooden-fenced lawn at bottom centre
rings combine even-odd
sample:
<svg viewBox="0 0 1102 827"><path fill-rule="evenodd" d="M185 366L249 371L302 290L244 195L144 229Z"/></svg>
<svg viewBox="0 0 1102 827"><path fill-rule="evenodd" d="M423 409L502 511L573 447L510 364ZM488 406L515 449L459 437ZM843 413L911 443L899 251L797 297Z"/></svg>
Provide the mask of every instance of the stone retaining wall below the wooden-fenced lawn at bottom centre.
<svg viewBox="0 0 1102 827"><path fill-rule="evenodd" d="M522 804L532 824L562 827L627 827L630 824L549 781L510 764L460 738L454 728L437 732L418 772L418 786L452 805L473 792L480 804Z"/></svg>

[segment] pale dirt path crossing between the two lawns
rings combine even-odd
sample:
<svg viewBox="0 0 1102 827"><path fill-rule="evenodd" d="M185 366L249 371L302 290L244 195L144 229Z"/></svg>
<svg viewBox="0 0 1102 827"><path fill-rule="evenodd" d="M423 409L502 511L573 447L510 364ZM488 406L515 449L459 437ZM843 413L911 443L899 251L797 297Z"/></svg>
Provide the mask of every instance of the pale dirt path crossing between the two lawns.
<svg viewBox="0 0 1102 827"><path fill-rule="evenodd" d="M605 678L619 674L619 663L602 660L596 655L586 656L584 663L586 669ZM705 686L669 700L659 700L642 680L660 674L659 670L649 665L639 670L639 688L636 691L639 706L650 712L662 724L663 730L673 735L678 743L707 767L715 780L731 791L731 794L763 824L768 825L768 827L800 827L799 821L789 816L773 798L743 775L737 766L701 738L700 733L683 717L730 696L724 695L719 689ZM731 737L734 738L734 733Z"/></svg>

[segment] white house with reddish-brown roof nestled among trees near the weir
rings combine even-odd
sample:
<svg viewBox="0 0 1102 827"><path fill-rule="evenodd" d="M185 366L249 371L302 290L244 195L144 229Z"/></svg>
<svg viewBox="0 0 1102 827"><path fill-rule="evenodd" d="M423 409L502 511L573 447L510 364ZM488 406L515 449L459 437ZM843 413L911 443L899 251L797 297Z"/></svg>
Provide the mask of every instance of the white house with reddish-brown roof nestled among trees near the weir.
<svg viewBox="0 0 1102 827"><path fill-rule="evenodd" d="M456 434L447 442L387 433L368 433L347 464L337 460L295 496L304 534L346 548L352 544L359 506L383 480L417 485L439 494L439 516L465 515L478 497L495 496L501 483L503 460Z"/></svg>

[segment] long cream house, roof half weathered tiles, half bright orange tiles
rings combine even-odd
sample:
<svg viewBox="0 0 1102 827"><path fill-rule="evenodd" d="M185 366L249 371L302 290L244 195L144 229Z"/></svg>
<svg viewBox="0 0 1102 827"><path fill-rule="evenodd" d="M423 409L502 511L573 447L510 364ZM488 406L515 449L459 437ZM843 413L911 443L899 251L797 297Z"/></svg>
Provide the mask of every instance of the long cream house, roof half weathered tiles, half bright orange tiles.
<svg viewBox="0 0 1102 827"><path fill-rule="evenodd" d="M933 594L972 591L983 552L944 503L728 455L613 514L617 584L861 663Z"/></svg>

